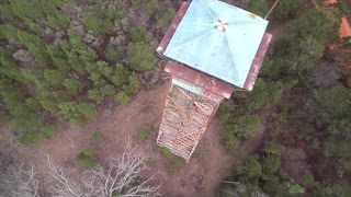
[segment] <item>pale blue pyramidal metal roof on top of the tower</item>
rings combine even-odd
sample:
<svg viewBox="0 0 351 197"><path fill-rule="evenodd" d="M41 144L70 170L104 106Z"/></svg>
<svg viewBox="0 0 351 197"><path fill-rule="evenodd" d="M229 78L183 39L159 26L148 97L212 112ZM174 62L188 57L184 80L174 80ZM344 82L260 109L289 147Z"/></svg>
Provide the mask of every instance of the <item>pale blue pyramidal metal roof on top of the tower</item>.
<svg viewBox="0 0 351 197"><path fill-rule="evenodd" d="M218 0L193 0L163 55L245 86L268 21Z"/></svg>

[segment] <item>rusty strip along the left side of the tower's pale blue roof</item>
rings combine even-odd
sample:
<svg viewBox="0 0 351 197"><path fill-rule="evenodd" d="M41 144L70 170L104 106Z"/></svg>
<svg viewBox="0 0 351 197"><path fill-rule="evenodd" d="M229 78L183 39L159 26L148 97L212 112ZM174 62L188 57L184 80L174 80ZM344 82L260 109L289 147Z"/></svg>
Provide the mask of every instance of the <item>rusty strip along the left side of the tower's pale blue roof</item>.
<svg viewBox="0 0 351 197"><path fill-rule="evenodd" d="M180 9L177 12L177 15L174 16L171 25L169 26L169 28L167 30L163 38L161 39L160 44L158 45L156 51L159 54L163 54L167 49L167 46L169 44L169 42L172 39L176 30L178 27L178 25L180 24L180 22L182 21L188 8L189 8L190 3L184 1L182 3L182 5L180 7Z"/></svg>

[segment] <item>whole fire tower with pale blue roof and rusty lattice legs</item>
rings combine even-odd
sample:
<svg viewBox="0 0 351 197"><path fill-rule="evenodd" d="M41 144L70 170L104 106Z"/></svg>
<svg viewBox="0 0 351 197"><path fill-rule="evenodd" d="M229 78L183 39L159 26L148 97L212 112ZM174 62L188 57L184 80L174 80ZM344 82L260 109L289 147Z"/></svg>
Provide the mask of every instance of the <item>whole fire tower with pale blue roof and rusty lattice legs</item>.
<svg viewBox="0 0 351 197"><path fill-rule="evenodd" d="M157 144L189 162L220 102L252 90L272 37L267 25L218 0L182 3L157 48L172 79Z"/></svg>

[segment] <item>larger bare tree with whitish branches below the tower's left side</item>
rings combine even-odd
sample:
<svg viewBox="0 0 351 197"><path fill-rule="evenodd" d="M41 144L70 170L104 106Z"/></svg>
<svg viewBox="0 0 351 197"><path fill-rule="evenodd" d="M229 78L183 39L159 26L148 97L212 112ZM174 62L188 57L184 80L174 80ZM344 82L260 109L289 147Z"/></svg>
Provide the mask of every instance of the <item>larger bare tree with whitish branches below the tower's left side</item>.
<svg viewBox="0 0 351 197"><path fill-rule="evenodd" d="M140 173L146 170L146 159L140 149L132 148L127 142L125 151L110 159L107 167L89 170L80 178L73 179L67 170L48 158L47 173L54 178L50 192L53 196L72 197L158 196L160 185L150 184L155 175L147 179L140 177Z"/></svg>

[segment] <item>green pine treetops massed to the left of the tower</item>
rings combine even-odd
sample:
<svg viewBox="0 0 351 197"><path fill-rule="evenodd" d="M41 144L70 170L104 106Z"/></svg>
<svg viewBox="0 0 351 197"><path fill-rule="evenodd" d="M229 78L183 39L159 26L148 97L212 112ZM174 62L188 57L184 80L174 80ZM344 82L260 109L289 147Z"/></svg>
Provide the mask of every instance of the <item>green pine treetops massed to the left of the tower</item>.
<svg viewBox="0 0 351 197"><path fill-rule="evenodd" d="M99 48L98 56L78 31L69 28L71 19L61 10L63 3L67 2L4 0L0 3L0 39L7 45L0 47L0 118L16 129L20 142L25 144L55 134L55 127L46 121L56 123L63 117L82 125L86 118L95 117L95 104L89 103L91 101L100 104L104 96L113 95L122 104L129 102L128 95L140 89L138 78L129 68L122 65L114 68L102 61L103 54L112 65L127 56L131 67L138 71L151 69L156 63L154 49L148 44L151 38L140 25L128 32L127 36L136 43L128 53L126 46L107 45L105 53ZM157 0L140 1L140 5L149 14L158 10ZM126 12L101 0L91 2L83 10L78 20L84 27L92 30L95 36L107 37L114 34L114 23L118 23ZM54 40L55 32L63 32L63 37ZM9 49L10 53L5 51ZM33 54L35 61L18 66L12 58L18 49Z"/></svg>

